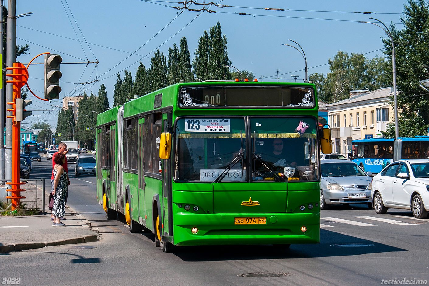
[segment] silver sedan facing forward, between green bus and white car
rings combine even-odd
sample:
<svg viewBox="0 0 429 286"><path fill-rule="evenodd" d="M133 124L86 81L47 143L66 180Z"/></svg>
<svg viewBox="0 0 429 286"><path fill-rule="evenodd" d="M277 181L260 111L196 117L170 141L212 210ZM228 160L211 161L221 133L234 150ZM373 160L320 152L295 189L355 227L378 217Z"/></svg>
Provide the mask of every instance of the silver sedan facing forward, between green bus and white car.
<svg viewBox="0 0 429 286"><path fill-rule="evenodd" d="M323 160L320 171L321 210L340 204L367 204L372 208L371 172L365 173L348 160Z"/></svg>

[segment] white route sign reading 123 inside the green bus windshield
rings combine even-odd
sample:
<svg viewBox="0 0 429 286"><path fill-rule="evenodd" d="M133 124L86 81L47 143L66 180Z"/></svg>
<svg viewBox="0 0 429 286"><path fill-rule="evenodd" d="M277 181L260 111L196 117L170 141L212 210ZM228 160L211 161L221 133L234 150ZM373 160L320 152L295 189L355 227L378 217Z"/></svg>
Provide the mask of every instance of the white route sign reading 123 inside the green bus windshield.
<svg viewBox="0 0 429 286"><path fill-rule="evenodd" d="M185 132L230 132L230 119L187 118Z"/></svg>

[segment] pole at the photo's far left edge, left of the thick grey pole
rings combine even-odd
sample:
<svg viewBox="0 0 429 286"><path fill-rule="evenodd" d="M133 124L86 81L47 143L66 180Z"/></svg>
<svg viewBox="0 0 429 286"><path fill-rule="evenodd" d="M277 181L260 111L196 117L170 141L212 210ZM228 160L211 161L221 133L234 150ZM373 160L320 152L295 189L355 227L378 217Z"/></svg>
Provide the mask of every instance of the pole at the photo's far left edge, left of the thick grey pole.
<svg viewBox="0 0 429 286"><path fill-rule="evenodd" d="M4 74L4 70L3 70L3 62L5 60L4 56L5 54L3 53L3 39L4 39L4 35L3 35L3 0L0 0L0 35L1 35L1 40L0 40L0 51L3 55L2 60L1 60L1 70L2 73ZM5 117L6 117L6 106L5 106L5 102L6 102L6 98L4 96L4 85L5 82L3 81L3 87L1 89L0 92L0 127L1 127L1 134L0 134L0 180L4 179L4 172L5 172L5 168L4 168L4 124L5 124ZM7 196L7 192L6 192L6 188L1 188L0 189L0 201L5 202L6 201L6 196Z"/></svg>

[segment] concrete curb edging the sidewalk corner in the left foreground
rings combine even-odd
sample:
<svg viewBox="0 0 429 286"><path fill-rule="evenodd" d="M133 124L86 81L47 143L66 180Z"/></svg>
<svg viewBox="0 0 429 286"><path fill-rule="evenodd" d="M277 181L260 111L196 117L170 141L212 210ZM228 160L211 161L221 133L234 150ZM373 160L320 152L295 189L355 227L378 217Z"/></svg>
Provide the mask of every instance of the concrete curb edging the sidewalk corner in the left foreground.
<svg viewBox="0 0 429 286"><path fill-rule="evenodd" d="M24 242L24 243L14 243L14 244L1 244L0 245L0 253L8 253L12 251L20 251L20 250L29 250L29 249L37 249L48 246L55 245L64 245L64 244L79 244L79 243L87 243L98 241L98 235L84 235L75 238L66 238L60 239L56 241L49 242Z"/></svg>

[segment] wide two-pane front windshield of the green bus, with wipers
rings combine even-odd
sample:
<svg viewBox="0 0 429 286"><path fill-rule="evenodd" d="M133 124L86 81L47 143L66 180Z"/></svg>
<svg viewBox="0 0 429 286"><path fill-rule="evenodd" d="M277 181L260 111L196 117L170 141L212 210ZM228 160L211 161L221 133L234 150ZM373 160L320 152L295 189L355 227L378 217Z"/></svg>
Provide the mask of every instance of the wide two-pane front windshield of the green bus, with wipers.
<svg viewBox="0 0 429 286"><path fill-rule="evenodd" d="M251 117L250 126L251 150L246 150L249 142L244 117L179 119L175 179L213 182L230 169L222 182L246 181L247 172L251 181L317 180L314 119ZM252 169L246 168L247 164Z"/></svg>

